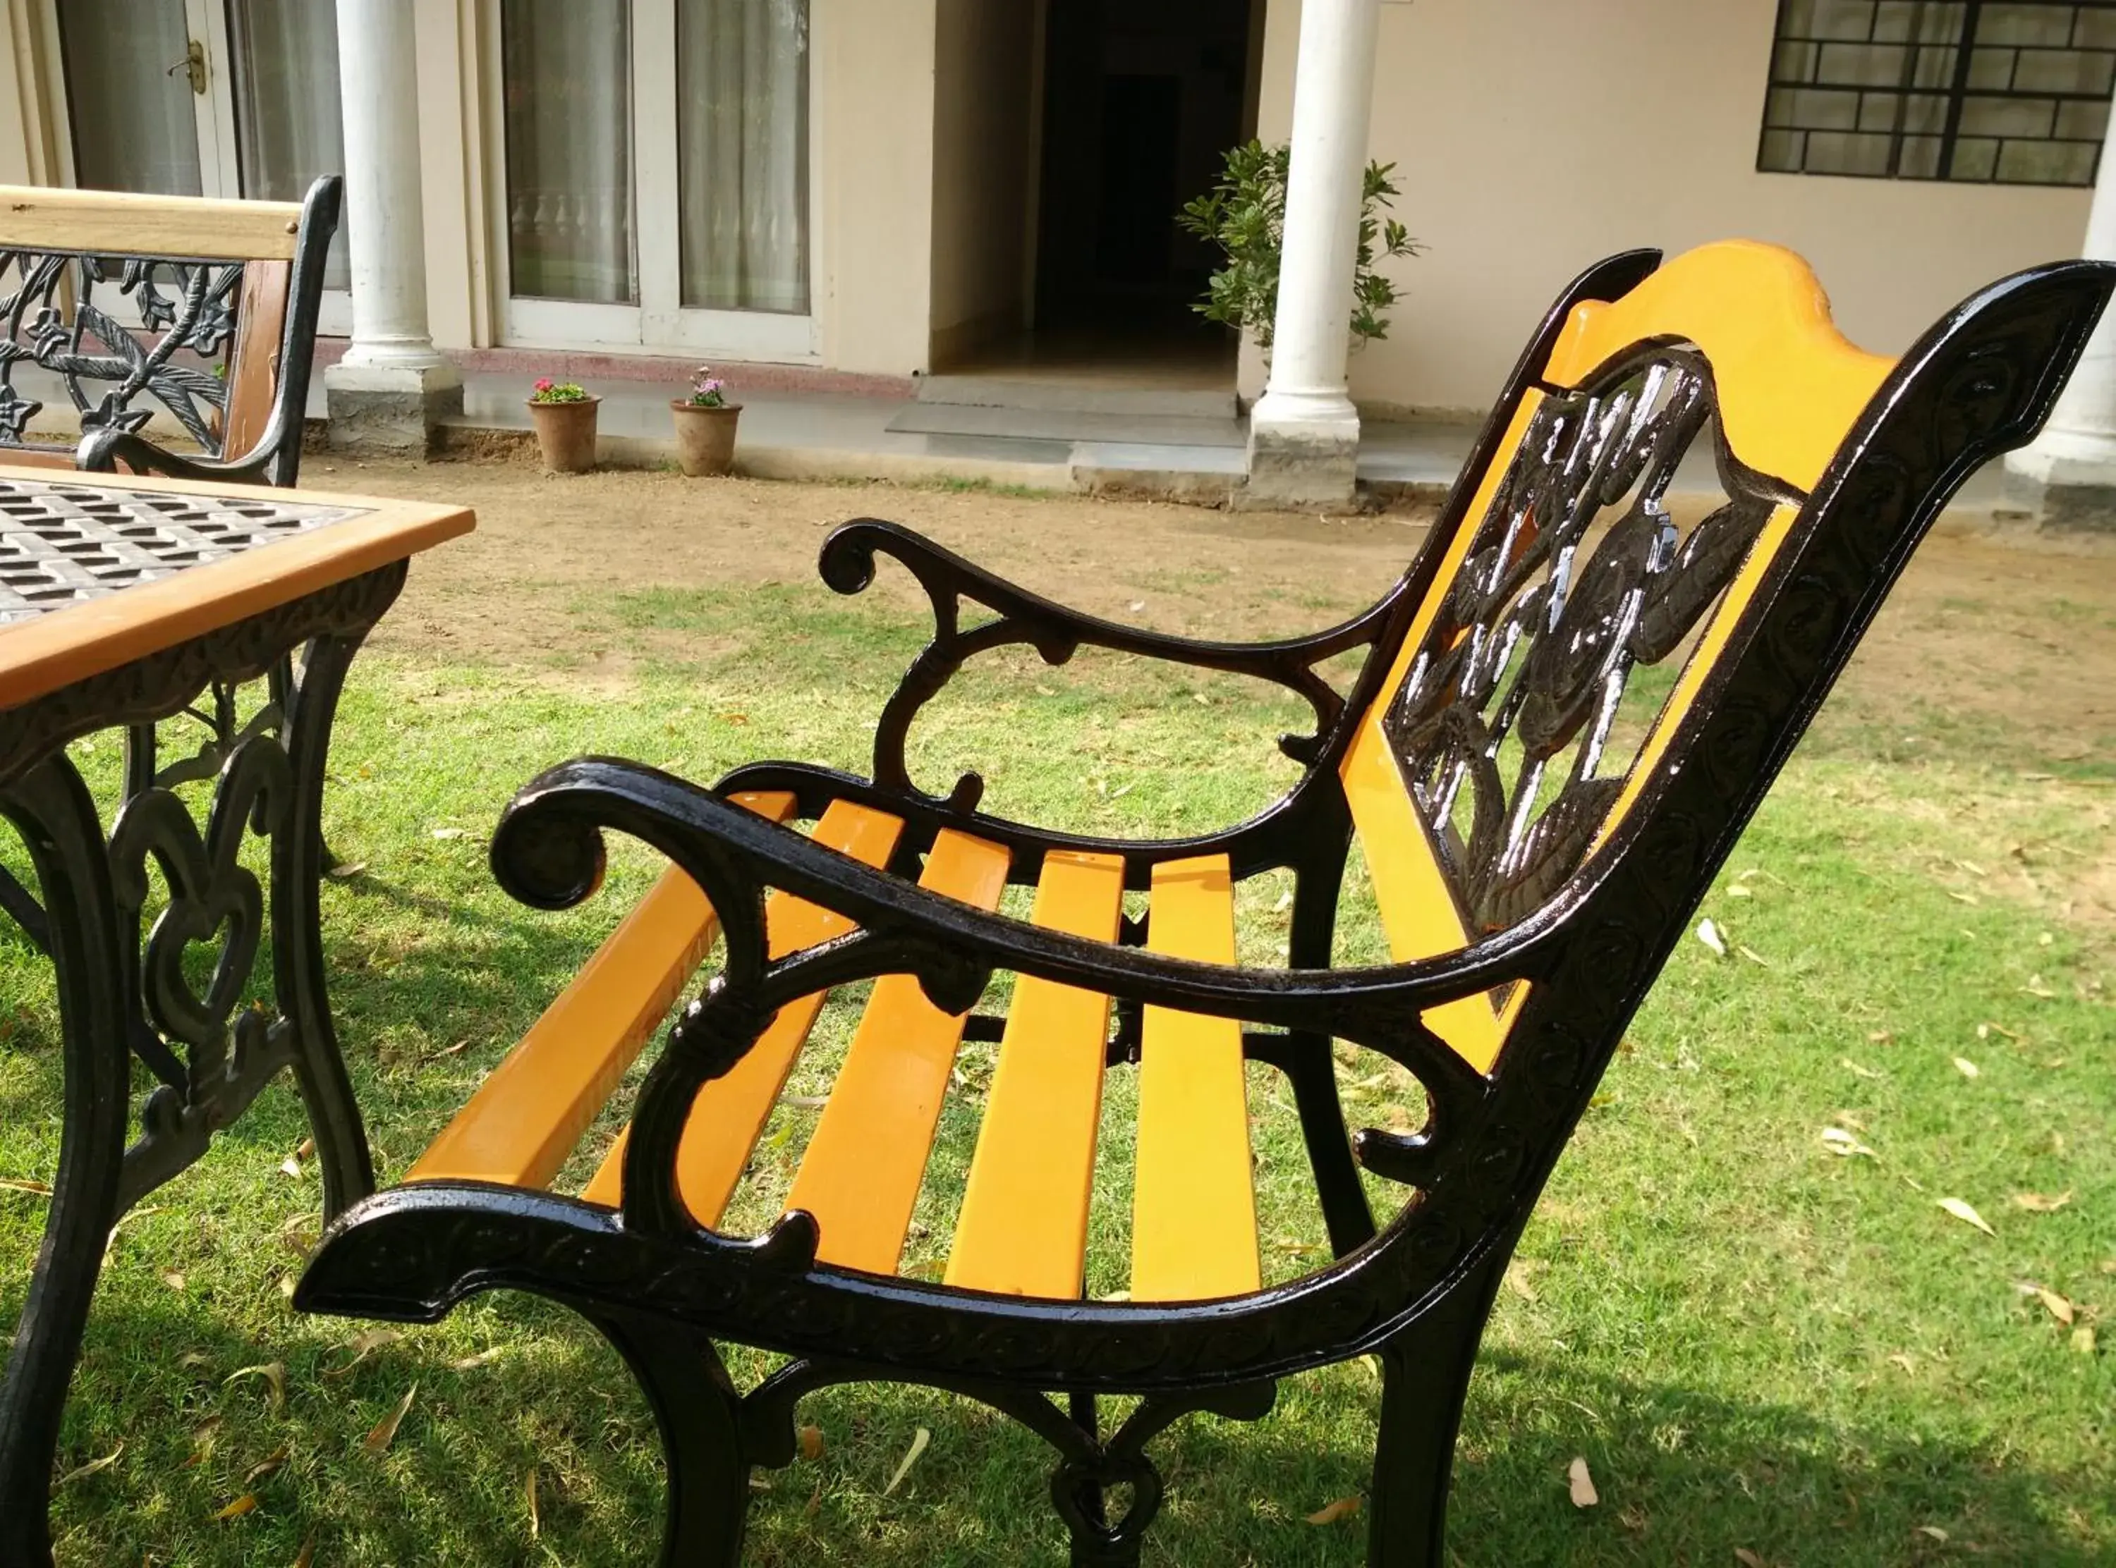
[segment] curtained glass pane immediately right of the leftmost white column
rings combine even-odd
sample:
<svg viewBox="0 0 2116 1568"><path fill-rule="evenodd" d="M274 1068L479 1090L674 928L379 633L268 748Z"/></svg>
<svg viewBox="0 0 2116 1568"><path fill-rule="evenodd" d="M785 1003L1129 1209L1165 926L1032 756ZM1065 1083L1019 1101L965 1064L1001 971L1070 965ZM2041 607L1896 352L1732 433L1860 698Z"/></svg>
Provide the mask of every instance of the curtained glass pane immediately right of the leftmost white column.
<svg viewBox="0 0 2116 1568"><path fill-rule="evenodd" d="M504 0L499 19L512 292L631 305L631 6Z"/></svg>

